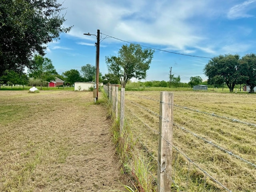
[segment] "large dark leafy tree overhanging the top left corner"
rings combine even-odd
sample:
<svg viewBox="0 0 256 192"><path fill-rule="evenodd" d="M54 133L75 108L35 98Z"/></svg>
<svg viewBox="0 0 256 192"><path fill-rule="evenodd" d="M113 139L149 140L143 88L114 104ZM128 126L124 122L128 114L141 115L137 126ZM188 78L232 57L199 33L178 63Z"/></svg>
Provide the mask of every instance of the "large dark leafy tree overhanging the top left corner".
<svg viewBox="0 0 256 192"><path fill-rule="evenodd" d="M31 68L35 52L44 55L46 45L62 32L64 15L57 0L2 0L0 3L0 76L5 70Z"/></svg>

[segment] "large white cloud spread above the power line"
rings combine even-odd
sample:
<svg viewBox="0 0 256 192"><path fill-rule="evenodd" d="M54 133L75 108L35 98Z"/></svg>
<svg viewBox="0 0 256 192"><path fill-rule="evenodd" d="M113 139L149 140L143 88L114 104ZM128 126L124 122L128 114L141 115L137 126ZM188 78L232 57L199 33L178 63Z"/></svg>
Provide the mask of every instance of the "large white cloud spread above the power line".
<svg viewBox="0 0 256 192"><path fill-rule="evenodd" d="M202 0L66 0L63 6L68 7L65 25L74 25L68 35L75 38L95 41L83 33L96 34L100 29L100 32L122 40L170 46L180 51L204 40L199 26L190 22L194 16L206 12L207 4ZM117 40L104 40L106 43L114 41Z"/></svg>

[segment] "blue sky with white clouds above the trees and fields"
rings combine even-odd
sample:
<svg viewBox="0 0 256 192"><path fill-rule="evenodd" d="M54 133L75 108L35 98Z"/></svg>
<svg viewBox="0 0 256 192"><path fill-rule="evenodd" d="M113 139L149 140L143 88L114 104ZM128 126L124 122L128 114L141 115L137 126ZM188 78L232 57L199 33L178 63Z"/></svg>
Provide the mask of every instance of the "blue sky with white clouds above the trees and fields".
<svg viewBox="0 0 256 192"><path fill-rule="evenodd" d="M63 6L67 8L64 26L74 27L49 43L46 50L59 74L95 65L96 37L83 34L97 34L98 29L102 33L102 74L108 73L105 56L117 55L121 46L128 44L114 38L103 40L106 35L209 58L256 52L256 0L65 0ZM170 67L181 82L189 82L191 76L206 80L203 68L208 60L156 50L146 81L168 81Z"/></svg>

